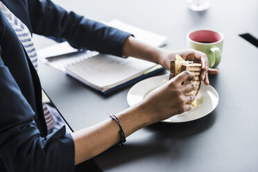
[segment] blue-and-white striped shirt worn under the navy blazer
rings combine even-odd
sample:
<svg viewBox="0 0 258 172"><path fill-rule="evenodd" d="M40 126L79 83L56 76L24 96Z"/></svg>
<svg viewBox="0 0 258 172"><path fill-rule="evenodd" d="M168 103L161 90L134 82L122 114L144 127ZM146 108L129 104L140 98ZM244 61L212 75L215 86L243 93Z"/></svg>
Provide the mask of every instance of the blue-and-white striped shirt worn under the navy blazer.
<svg viewBox="0 0 258 172"><path fill-rule="evenodd" d="M10 10L8 10L8 8L6 8L6 6L1 1L0 9L3 12L3 15L6 16L6 19L8 19L8 22L10 22L12 28L17 34L17 37L19 37L19 40L22 42L22 45L24 46L28 57L30 58L33 66L37 71L37 52L33 44L31 32L28 30L27 26L23 24L22 21L20 21L15 15L13 15L12 12L10 12ZM61 126L65 124L62 120L62 117L58 117L57 114L51 114L49 110L55 112L51 107L47 106L45 103L42 103L42 105L44 110L44 117L46 120L46 126L49 133L58 130Z"/></svg>

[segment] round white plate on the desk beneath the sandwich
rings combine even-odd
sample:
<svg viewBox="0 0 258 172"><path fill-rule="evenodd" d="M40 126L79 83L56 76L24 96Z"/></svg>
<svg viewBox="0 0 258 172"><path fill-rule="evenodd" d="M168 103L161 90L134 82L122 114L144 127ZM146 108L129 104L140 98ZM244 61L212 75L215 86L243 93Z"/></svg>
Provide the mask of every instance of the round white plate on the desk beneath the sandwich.
<svg viewBox="0 0 258 172"><path fill-rule="evenodd" d="M164 84L164 80L169 80L169 76L154 76L141 80L139 83L132 86L127 94L127 101L130 106L139 103L144 97L149 94L153 89L160 87ZM192 110L177 114L163 122L167 123L180 123L193 121L205 117L207 114L212 112L218 105L218 93L211 85L205 85L201 83L200 90L196 96L196 107Z"/></svg>

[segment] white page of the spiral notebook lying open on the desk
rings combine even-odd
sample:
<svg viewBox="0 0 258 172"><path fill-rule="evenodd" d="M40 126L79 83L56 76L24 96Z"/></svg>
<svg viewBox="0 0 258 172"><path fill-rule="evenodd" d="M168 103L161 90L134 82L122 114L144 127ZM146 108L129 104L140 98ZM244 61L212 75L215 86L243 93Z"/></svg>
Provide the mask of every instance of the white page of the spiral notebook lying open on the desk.
<svg viewBox="0 0 258 172"><path fill-rule="evenodd" d="M136 58L99 54L67 66L67 74L97 89L109 89L141 76L157 64ZM85 82L86 81L86 82Z"/></svg>

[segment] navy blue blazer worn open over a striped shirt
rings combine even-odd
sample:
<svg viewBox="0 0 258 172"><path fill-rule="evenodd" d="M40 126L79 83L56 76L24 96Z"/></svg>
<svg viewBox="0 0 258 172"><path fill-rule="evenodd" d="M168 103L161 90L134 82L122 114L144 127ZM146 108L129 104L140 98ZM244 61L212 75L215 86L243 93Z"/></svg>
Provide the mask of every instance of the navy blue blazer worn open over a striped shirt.
<svg viewBox="0 0 258 172"><path fill-rule="evenodd" d="M121 56L130 35L67 12L49 0L1 0L31 33L77 49ZM0 10L0 171L74 171L74 141L61 128L47 135L40 80Z"/></svg>

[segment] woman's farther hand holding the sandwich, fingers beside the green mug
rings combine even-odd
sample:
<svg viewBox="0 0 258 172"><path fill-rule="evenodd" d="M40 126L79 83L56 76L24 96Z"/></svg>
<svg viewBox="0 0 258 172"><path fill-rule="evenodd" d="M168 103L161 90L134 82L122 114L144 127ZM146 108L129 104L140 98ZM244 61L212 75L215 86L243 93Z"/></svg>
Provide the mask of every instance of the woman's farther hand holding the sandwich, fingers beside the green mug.
<svg viewBox="0 0 258 172"><path fill-rule="evenodd" d="M185 49L180 51L166 51L160 50L159 53L159 62L163 65L166 69L169 70L170 62L175 60L175 55L180 55L184 60L189 60L197 63L202 64L202 71L200 73L200 79L204 81L205 85L209 85L209 74L218 74L217 69L210 69L209 68L209 60L207 55L203 52L196 51L194 49Z"/></svg>

